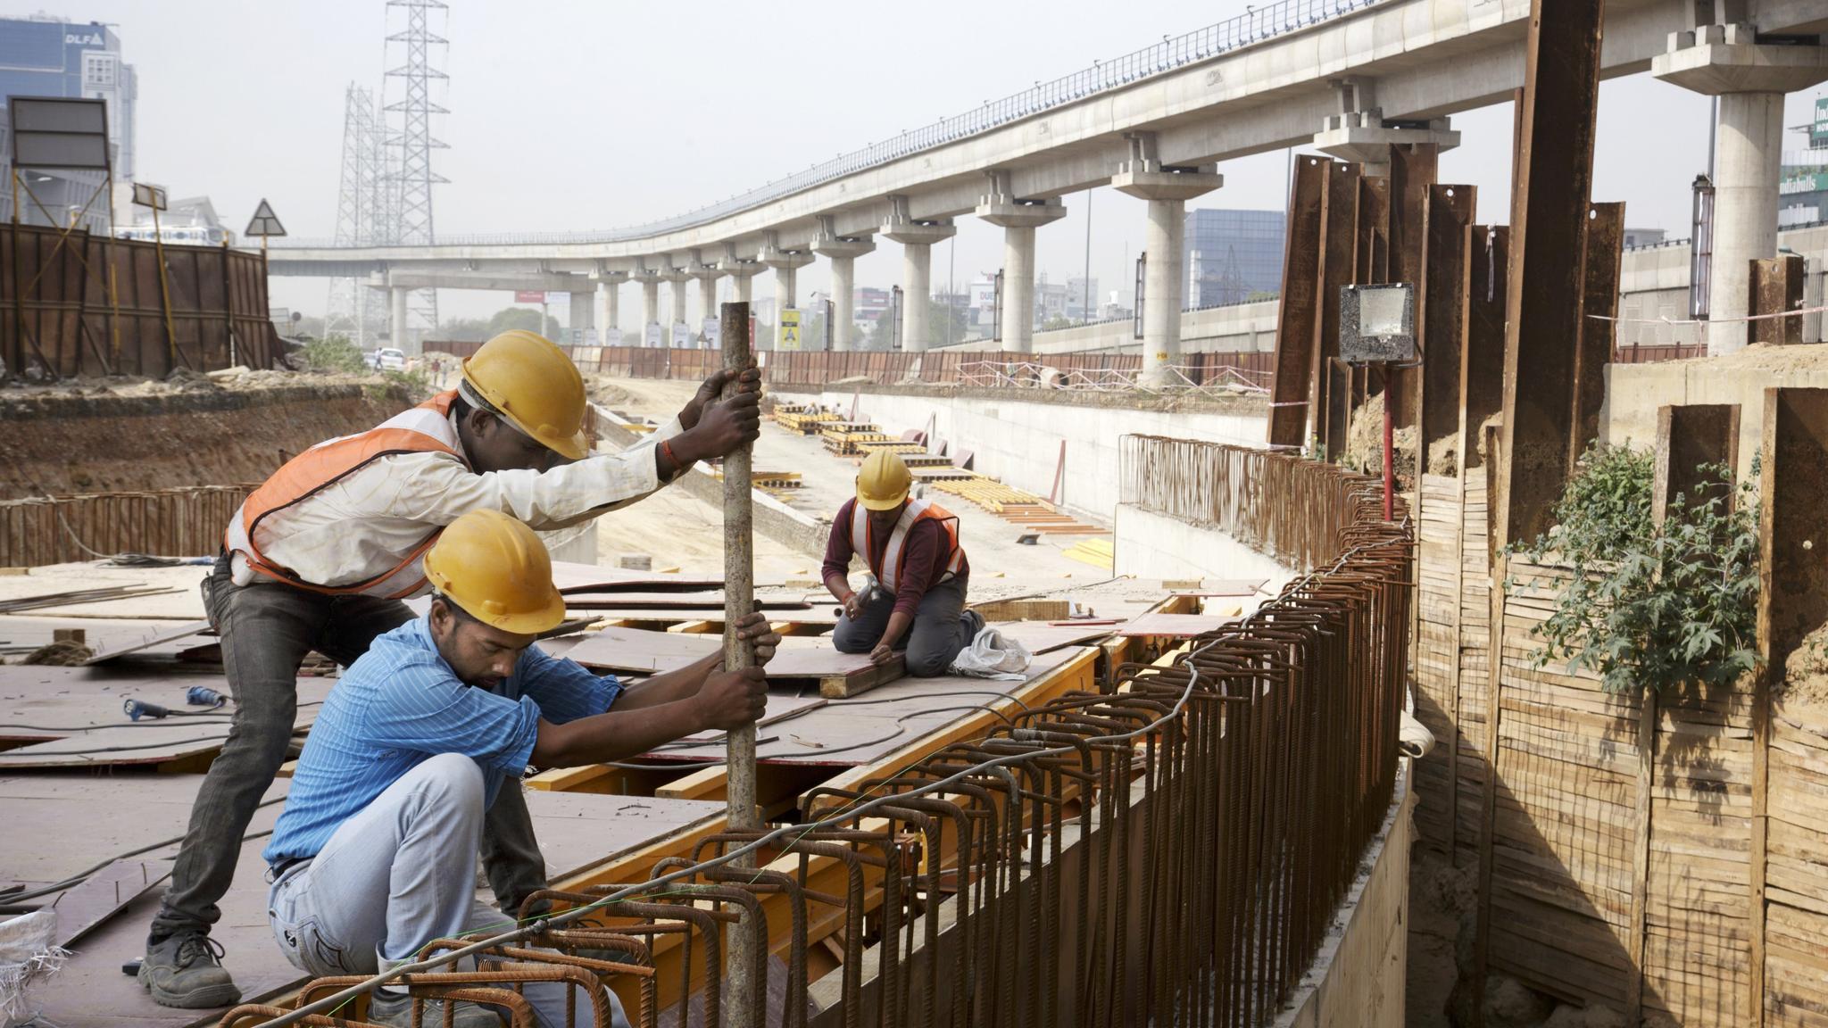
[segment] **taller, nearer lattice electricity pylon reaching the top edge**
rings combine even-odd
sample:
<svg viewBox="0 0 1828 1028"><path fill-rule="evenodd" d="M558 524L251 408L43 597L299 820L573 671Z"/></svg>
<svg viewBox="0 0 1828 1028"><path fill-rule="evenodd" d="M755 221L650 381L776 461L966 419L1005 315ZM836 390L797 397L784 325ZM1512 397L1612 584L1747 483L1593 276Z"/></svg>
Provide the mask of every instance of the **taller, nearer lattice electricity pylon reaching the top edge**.
<svg viewBox="0 0 1828 1028"><path fill-rule="evenodd" d="M433 82L448 82L450 75L431 68L431 48L450 46L444 37L431 31L431 11L439 11L448 20L448 7L442 0L388 0L389 15L393 7L406 13L406 27L388 37L389 62L393 53L400 53L402 64L388 70L386 82L397 88L384 88L384 150L388 150L389 227L388 243L415 245L431 243L431 187L448 179L431 170L431 152L444 150L446 145L431 135L431 115L450 113L431 99ZM399 99L388 102L388 95ZM391 115L391 117L389 117ZM439 294L435 289L420 289L408 304L409 320L417 327L431 331L439 324ZM402 346L404 340L393 340Z"/></svg>

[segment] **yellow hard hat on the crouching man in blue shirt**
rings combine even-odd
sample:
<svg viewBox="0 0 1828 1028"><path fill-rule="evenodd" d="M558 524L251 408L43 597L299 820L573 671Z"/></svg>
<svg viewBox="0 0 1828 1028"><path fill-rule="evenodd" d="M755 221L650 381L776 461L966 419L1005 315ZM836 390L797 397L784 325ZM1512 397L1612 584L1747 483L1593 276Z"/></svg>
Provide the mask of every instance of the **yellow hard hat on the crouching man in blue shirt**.
<svg viewBox="0 0 1828 1028"><path fill-rule="evenodd" d="M503 631L539 635L565 620L547 545L501 510L472 510L446 525L426 554L426 580Z"/></svg>

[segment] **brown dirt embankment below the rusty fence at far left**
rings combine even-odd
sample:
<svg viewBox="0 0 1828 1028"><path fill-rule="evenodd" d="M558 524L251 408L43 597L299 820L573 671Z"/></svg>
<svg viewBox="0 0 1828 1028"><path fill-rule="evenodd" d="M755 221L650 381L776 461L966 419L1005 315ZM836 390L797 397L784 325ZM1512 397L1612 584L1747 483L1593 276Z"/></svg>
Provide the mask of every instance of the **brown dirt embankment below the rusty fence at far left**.
<svg viewBox="0 0 1828 1028"><path fill-rule="evenodd" d="M0 499L254 483L413 402L386 379L245 369L0 390Z"/></svg>

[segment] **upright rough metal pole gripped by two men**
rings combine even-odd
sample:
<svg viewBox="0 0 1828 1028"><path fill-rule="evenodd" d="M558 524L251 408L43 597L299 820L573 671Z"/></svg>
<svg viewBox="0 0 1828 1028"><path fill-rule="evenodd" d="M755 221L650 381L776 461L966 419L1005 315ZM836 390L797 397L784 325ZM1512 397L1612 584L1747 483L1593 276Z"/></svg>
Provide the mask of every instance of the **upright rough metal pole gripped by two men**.
<svg viewBox="0 0 1828 1028"><path fill-rule="evenodd" d="M749 305L724 304L718 337L724 344L724 369L740 373L749 366ZM737 379L724 386L724 399L737 395ZM749 494L749 455L751 448L724 457L724 668L737 671L755 666L755 651L737 638L737 622L755 609L755 534L753 503ZM728 821L729 830L760 829L762 821L755 808L755 724L744 724L729 734L726 743L726 766L729 770ZM755 867L755 858L737 860L733 867ZM731 933L729 990L726 997L724 1024L751 1024L757 1002L762 1002L768 982L751 980L755 969L755 949L762 942L755 937L755 924L739 924ZM717 968L709 969L718 973ZM717 1013L707 1012L706 1021L717 1024Z"/></svg>

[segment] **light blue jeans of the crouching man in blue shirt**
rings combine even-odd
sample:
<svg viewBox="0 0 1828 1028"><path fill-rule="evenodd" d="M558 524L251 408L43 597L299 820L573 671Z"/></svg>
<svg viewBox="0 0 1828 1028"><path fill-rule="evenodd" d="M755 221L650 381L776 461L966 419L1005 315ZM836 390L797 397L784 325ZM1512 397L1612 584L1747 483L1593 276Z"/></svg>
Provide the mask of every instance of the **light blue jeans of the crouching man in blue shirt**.
<svg viewBox="0 0 1828 1028"><path fill-rule="evenodd" d="M411 962L433 938L506 929L475 900L483 814L483 768L470 757L442 754L400 776L269 889L267 920L285 958L311 975L373 975ZM565 1028L570 988L526 986L541 1028ZM616 1028L627 1028L609 999ZM587 1019L589 999L579 995L578 1010Z"/></svg>

